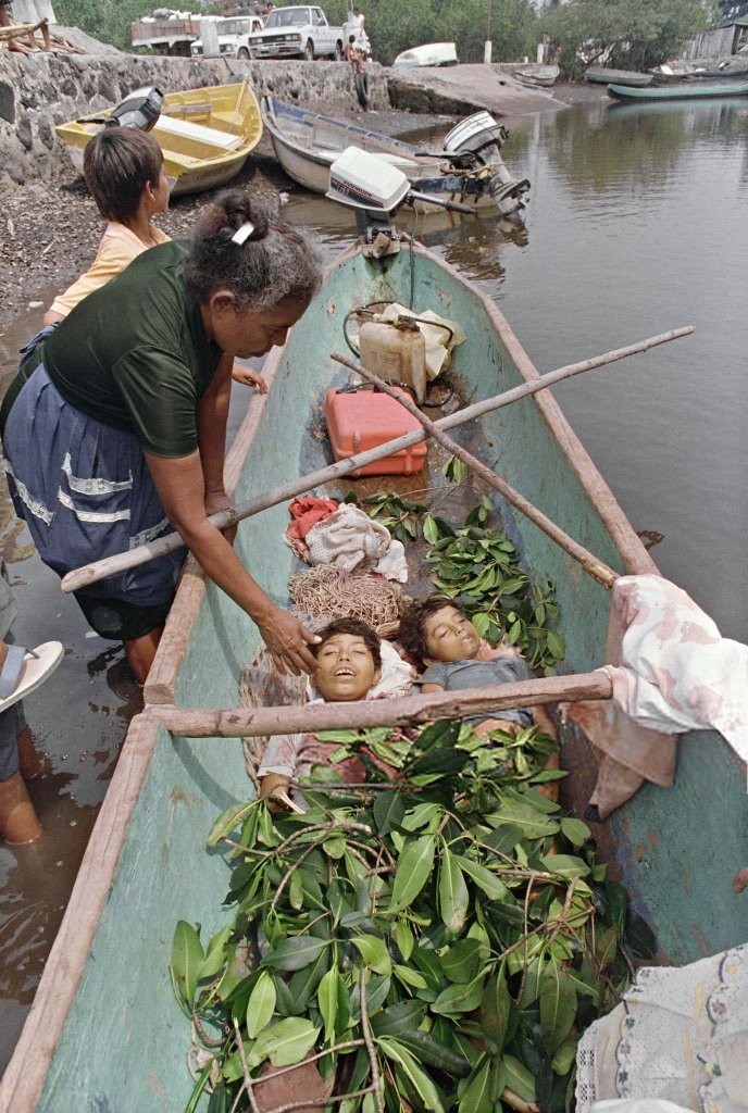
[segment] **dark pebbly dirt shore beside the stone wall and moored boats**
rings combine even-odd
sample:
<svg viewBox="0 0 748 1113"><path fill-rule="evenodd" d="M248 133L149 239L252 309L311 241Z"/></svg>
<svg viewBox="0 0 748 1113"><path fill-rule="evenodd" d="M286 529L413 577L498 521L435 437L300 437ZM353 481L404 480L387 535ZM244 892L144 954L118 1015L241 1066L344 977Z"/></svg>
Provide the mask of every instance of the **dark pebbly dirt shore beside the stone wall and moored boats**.
<svg viewBox="0 0 748 1113"><path fill-rule="evenodd" d="M604 86L559 85L557 100L565 104L599 100ZM450 117L411 112L368 112L355 122L387 135L450 125ZM232 185L252 190L276 205L278 195L301 189L283 173L273 156L270 141L263 137L246 167ZM210 193L176 198L158 225L169 236L188 236L197 216L209 203ZM49 301L50 292L63 290L87 269L104 230L101 218L89 197L83 179L67 159L52 181L32 181L3 197L0 211L0 336L3 328L28 307Z"/></svg>

